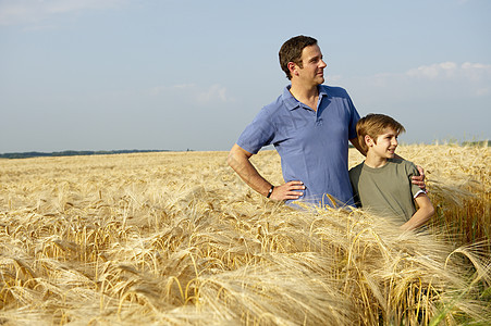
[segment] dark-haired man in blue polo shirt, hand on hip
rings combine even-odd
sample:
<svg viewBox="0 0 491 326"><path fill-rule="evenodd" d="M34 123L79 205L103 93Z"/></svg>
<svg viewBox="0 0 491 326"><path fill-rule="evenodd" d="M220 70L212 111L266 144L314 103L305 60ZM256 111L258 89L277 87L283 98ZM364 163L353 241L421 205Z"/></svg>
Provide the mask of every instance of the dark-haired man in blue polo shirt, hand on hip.
<svg viewBox="0 0 491 326"><path fill-rule="evenodd" d="M334 198L335 204L354 205L347 153L349 140L365 154L356 137L358 112L344 89L322 85L327 64L315 38L291 38L279 57L291 85L242 133L229 165L254 190L273 200L333 205ZM285 184L280 186L271 185L249 161L270 143L281 156Z"/></svg>

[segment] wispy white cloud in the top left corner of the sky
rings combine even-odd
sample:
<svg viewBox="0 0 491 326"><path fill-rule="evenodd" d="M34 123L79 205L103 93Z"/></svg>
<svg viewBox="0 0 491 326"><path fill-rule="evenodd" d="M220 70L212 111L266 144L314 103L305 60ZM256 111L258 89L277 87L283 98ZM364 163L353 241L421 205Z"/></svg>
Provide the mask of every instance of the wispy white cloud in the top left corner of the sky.
<svg viewBox="0 0 491 326"><path fill-rule="evenodd" d="M125 2L126 0L2 0L0 25L39 23L53 15L111 9Z"/></svg>

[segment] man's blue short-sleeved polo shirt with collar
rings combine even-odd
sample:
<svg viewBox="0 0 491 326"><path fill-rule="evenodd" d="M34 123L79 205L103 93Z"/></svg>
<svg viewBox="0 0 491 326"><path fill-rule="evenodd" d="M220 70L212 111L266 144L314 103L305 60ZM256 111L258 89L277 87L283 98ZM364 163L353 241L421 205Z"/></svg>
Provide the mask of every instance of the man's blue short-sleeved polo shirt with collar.
<svg viewBox="0 0 491 326"><path fill-rule="evenodd" d="M290 87L262 108L237 145L253 154L274 145L285 183L300 180L306 187L300 200L329 204L329 193L342 204L354 205L347 152L359 114L349 96L343 88L320 85L316 112L297 101Z"/></svg>

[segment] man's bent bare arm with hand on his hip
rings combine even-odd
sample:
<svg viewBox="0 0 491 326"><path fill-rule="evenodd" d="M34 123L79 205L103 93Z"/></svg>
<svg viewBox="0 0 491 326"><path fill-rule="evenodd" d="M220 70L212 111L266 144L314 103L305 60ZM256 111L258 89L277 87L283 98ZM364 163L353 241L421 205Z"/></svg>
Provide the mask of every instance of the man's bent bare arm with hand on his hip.
<svg viewBox="0 0 491 326"><path fill-rule="evenodd" d="M250 188L262 196L268 196L271 184L250 163L249 159L251 155L251 153L235 143L230 150L226 162ZM278 187L274 186L270 198L274 200L298 199L303 196L303 192L296 190L304 189L305 186L302 181L290 181Z"/></svg>

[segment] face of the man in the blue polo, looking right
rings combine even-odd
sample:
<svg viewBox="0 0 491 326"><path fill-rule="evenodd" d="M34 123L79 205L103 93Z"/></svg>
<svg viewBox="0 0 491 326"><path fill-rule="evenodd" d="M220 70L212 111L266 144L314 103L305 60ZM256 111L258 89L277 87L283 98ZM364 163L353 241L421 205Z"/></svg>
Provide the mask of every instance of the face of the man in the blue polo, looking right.
<svg viewBox="0 0 491 326"><path fill-rule="evenodd" d="M310 46L302 51L303 67L295 65L297 76L305 86L317 86L324 83L326 62L319 46Z"/></svg>

